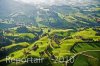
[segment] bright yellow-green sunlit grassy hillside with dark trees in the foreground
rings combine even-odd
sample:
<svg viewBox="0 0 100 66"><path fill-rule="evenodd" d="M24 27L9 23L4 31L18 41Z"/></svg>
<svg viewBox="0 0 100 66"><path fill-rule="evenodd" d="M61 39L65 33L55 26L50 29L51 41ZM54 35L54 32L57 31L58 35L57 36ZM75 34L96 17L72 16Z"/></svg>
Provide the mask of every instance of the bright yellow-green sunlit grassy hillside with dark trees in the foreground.
<svg viewBox="0 0 100 66"><path fill-rule="evenodd" d="M44 61L44 63L46 62L54 66L65 65L64 63L59 63L59 64L54 63L55 61L59 62L58 58L61 61L62 57L66 58L74 56L76 54L74 63L73 64L69 63L69 66L70 65L80 66L81 64L83 64L83 66L87 66L89 64L91 66L98 66L98 64L94 65L94 63L92 62L97 61L97 63L99 63L99 61L95 59L100 59L98 54L99 51L97 51L100 50L100 45L99 45L100 36L98 35L98 31L100 30L99 28L95 29L80 28L78 30L73 30L73 29L56 30L56 29L43 28L42 30L43 34L41 34L39 36L39 39L35 40L34 42L32 43L13 42L14 44L2 47L0 52L7 51L6 55L12 58L43 57L45 58L45 60L47 59L47 61L50 61L50 62ZM27 36L30 39L33 39L36 38L34 36L37 36L37 34L14 33L12 35L12 33L5 33L4 36L10 36L10 37L17 36L19 38L24 38L25 36ZM55 58L53 58L52 56L54 56ZM3 63L3 61L5 60L4 57L1 58L0 63ZM94 58L93 61L91 61L92 58ZM53 61L51 59L53 59ZM65 60L64 62L66 61L68 61L68 59ZM83 61L85 62L79 64L79 62ZM11 63L10 65L7 66L11 65L13 64ZM24 64L18 64L18 65L24 65ZM44 66L44 64L42 65Z"/></svg>

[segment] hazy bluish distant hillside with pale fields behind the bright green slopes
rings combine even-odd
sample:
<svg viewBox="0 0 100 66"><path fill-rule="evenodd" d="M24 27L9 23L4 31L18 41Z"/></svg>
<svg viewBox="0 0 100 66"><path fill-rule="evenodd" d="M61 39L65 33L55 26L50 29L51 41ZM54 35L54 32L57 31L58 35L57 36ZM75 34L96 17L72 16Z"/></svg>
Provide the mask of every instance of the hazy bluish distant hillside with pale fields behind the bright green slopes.
<svg viewBox="0 0 100 66"><path fill-rule="evenodd" d="M89 2L85 0L72 5L68 2L66 5L52 6L0 0L0 19L12 19L14 23L54 28L97 26L99 24L96 19L100 16L99 7L99 0L89 0Z"/></svg>

